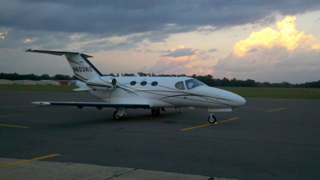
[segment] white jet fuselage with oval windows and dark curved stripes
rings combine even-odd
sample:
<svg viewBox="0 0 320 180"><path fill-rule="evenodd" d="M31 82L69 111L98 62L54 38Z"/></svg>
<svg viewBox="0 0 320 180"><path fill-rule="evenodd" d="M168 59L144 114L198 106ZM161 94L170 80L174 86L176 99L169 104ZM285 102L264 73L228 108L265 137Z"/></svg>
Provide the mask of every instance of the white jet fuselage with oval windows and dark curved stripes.
<svg viewBox="0 0 320 180"><path fill-rule="evenodd" d="M116 85L110 85L110 79L116 79ZM200 108L234 108L245 104L241 96L197 83L191 77L151 77L151 76L101 76L87 85L89 92L106 101L150 104L158 107L200 107ZM195 81L194 81L195 80ZM189 82L189 83L188 83ZM199 82L199 81L198 81ZM177 84L178 83L178 84ZM194 85L194 84L192 84Z"/></svg>

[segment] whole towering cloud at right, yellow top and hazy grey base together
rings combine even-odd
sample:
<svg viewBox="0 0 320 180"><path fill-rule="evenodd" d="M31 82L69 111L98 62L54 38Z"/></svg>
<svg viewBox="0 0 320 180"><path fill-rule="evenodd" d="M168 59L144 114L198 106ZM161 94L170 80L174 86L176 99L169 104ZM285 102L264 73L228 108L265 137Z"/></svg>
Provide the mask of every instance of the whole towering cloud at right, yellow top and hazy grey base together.
<svg viewBox="0 0 320 180"><path fill-rule="evenodd" d="M312 34L297 31L294 16L278 21L277 27L236 42L233 52L212 66L214 76L293 83L320 79L320 45L312 44Z"/></svg>

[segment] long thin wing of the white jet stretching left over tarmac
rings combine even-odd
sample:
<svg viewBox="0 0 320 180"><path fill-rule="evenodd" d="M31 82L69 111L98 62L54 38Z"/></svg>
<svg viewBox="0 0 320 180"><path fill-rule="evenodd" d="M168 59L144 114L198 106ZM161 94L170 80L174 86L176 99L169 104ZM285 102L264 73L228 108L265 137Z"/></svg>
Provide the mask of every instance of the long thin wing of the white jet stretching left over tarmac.
<svg viewBox="0 0 320 180"><path fill-rule="evenodd" d="M109 103L109 102L48 102L48 101L36 101L31 102L40 105L73 105L78 108L83 106L93 106L98 109L102 107L126 107L126 108L150 108L149 104L125 104L125 103Z"/></svg>

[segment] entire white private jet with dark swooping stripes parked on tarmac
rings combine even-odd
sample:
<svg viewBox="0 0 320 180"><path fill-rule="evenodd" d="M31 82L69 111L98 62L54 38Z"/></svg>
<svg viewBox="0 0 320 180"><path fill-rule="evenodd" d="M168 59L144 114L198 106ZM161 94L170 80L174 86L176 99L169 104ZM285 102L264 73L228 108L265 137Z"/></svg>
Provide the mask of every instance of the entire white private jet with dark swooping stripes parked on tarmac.
<svg viewBox="0 0 320 180"><path fill-rule="evenodd" d="M85 90L105 102L32 102L41 105L74 105L78 108L94 106L98 109L114 107L114 119L121 119L127 108L151 109L159 115L165 107L208 108L208 121L214 123L213 112L232 111L244 105L245 99L235 93L209 87L191 77L103 76L87 59L92 57L79 52L32 50L27 52L65 55L74 75L79 78L75 91Z"/></svg>

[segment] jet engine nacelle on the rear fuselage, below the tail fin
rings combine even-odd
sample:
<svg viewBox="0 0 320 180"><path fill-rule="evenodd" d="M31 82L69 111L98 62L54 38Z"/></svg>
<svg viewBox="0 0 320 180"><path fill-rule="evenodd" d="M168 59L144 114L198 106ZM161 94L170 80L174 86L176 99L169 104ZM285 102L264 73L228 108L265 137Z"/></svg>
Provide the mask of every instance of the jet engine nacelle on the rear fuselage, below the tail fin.
<svg viewBox="0 0 320 180"><path fill-rule="evenodd" d="M113 76L95 77L85 83L88 87L97 90L108 90L116 87L117 81Z"/></svg>

